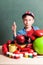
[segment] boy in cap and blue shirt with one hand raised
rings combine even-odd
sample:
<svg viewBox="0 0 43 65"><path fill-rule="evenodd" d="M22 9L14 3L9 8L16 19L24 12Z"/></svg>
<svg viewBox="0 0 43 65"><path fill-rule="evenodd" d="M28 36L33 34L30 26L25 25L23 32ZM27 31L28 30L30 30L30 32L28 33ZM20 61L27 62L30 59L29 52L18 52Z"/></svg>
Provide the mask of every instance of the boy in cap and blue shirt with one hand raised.
<svg viewBox="0 0 43 65"><path fill-rule="evenodd" d="M14 23L12 25L12 31L13 31L13 34L14 34L14 39L18 34L25 35L25 34L28 33L29 35L32 35L32 32L34 30L39 29L37 26L32 26L32 24L34 23L34 14L32 12L26 11L22 15L22 20L23 20L24 28L22 30L18 31L17 34L16 34L16 28L17 28L16 24Z"/></svg>

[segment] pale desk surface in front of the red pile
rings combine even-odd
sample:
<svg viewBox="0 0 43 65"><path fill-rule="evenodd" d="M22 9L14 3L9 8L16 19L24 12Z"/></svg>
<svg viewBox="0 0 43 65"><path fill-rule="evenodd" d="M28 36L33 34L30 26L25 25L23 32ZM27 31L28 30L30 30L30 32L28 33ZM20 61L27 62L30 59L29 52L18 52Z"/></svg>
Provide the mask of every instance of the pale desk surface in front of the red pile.
<svg viewBox="0 0 43 65"><path fill-rule="evenodd" d="M9 57L6 57L2 54L2 46L0 46L0 65L9 65L9 64L15 64L15 65L43 65L43 56L36 57L36 58L20 58L20 59L12 59Z"/></svg>

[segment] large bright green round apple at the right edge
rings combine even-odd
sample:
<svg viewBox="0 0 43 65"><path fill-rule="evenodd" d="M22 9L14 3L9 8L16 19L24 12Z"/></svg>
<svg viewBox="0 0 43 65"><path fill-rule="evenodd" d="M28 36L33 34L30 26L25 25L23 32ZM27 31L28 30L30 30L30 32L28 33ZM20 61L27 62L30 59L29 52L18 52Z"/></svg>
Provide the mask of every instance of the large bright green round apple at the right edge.
<svg viewBox="0 0 43 65"><path fill-rule="evenodd" d="M38 54L43 54L43 37L34 40L33 48Z"/></svg>

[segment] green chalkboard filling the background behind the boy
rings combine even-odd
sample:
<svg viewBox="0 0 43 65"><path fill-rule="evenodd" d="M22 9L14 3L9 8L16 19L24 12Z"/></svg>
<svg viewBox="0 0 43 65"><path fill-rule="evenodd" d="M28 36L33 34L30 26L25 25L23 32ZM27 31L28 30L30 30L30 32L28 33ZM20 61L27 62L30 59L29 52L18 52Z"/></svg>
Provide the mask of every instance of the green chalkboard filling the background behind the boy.
<svg viewBox="0 0 43 65"><path fill-rule="evenodd" d="M17 31L23 28L22 14L32 11L35 23L43 29L43 0L0 0L0 45L13 39L12 23L16 21Z"/></svg>

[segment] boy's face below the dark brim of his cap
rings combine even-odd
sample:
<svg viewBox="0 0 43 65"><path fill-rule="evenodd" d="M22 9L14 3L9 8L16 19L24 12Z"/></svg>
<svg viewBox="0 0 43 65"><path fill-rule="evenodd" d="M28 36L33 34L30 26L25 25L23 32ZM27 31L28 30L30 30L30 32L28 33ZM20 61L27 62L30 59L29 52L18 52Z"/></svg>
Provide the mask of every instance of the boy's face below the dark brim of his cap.
<svg viewBox="0 0 43 65"><path fill-rule="evenodd" d="M32 16L26 15L26 17L23 18L23 23L26 28L32 26L34 23L34 19Z"/></svg>

